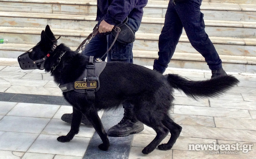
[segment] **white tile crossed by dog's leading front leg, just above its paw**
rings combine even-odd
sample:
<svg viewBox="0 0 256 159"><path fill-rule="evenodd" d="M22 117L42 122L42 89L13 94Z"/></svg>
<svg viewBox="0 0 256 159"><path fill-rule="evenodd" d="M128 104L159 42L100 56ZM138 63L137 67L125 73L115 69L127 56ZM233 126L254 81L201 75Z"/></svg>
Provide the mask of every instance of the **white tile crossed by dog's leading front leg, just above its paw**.
<svg viewBox="0 0 256 159"><path fill-rule="evenodd" d="M42 134L49 135L67 135L70 131L71 124L66 123L60 119L51 119L49 124L43 129ZM81 124L79 128L79 133L75 135L76 137L92 137L95 129L92 126L85 126Z"/></svg>

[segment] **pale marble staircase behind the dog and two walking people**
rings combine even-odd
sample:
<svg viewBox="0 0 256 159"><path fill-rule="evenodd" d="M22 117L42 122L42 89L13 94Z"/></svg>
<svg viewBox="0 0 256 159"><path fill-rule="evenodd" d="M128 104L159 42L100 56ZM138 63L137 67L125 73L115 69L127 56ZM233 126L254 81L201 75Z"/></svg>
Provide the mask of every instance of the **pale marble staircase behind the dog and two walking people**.
<svg viewBox="0 0 256 159"><path fill-rule="evenodd" d="M158 58L158 37L168 6L166 0L149 0L134 42L134 63L152 65ZM256 72L256 1L203 0L206 32L226 71ZM17 58L40 41L47 24L59 43L75 50L92 32L96 0L0 0L0 57ZM204 58L181 36L169 67L206 69Z"/></svg>

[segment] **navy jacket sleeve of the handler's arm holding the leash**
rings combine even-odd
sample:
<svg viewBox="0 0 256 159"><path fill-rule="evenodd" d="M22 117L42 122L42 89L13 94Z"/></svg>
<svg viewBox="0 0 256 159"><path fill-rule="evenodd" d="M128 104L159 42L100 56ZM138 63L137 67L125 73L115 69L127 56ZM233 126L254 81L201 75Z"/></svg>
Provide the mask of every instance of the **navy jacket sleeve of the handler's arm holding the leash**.
<svg viewBox="0 0 256 159"><path fill-rule="evenodd" d="M111 25L122 23L137 2L138 0L113 0L107 9L104 20Z"/></svg>

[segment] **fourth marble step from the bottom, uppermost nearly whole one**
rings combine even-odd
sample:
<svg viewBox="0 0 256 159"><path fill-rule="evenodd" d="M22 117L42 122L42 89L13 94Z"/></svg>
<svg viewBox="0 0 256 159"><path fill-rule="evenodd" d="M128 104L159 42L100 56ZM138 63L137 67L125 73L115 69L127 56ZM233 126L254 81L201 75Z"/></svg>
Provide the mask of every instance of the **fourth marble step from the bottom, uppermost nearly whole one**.
<svg viewBox="0 0 256 159"><path fill-rule="evenodd" d="M211 1L211 0L209 0ZM256 4L212 3L203 0L201 11L207 20L256 21ZM164 18L169 1L149 0L144 17ZM0 0L0 11L96 15L96 0ZM235 14L235 16L234 16Z"/></svg>

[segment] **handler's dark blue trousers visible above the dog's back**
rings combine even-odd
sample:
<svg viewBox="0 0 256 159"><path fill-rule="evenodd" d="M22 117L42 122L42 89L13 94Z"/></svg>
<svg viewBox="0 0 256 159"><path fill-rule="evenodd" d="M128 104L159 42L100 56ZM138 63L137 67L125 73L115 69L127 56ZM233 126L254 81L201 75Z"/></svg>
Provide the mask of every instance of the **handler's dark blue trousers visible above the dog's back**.
<svg viewBox="0 0 256 159"><path fill-rule="evenodd" d="M137 31L141 22L132 18L128 18L128 24L130 24L130 26L135 31ZM100 58L111 46L114 39L115 37L112 34L98 34L92 38L90 43L85 46L85 50L83 50L82 54L87 56L94 56L94 59ZM105 55L105 57L102 58L102 60L105 61L105 58L107 57L107 62L121 61L126 63L133 63L132 47L133 43L123 44L116 41L111 50L107 55Z"/></svg>

